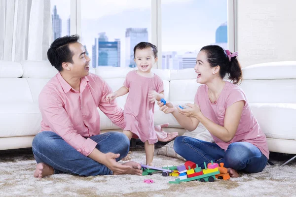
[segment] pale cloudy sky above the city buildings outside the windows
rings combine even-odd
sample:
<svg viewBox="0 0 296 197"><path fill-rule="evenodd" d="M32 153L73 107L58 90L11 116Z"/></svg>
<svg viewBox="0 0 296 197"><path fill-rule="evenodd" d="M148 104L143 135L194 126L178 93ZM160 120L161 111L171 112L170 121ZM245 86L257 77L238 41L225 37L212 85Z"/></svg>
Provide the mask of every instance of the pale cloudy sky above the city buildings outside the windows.
<svg viewBox="0 0 296 197"><path fill-rule="evenodd" d="M71 0L51 0L62 18L62 36L67 34ZM217 28L227 21L227 0L162 0L162 51L199 51L215 43ZM148 28L151 41L151 0L81 0L81 40L90 52L98 33L109 41L121 41L121 65L125 62L126 28Z"/></svg>

